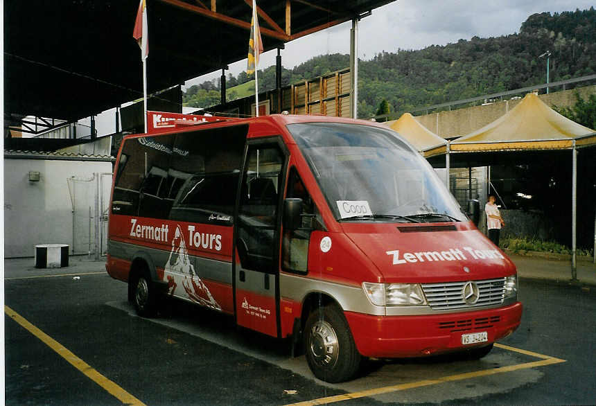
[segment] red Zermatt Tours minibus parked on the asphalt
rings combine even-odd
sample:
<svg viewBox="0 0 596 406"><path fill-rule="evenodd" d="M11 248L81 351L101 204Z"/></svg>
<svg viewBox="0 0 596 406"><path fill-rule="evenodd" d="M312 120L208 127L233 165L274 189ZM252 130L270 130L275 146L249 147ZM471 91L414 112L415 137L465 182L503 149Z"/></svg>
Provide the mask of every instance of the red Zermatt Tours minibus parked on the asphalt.
<svg viewBox="0 0 596 406"><path fill-rule="evenodd" d="M112 188L107 272L139 315L167 297L231 315L327 382L363 358L481 358L519 326L515 265L396 132L166 115L125 136Z"/></svg>

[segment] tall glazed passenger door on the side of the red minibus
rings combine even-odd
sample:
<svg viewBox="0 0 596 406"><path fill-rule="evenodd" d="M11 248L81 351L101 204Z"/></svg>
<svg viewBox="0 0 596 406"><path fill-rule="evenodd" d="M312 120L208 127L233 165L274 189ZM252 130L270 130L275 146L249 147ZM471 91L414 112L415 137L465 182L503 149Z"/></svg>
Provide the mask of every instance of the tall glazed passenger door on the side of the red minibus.
<svg viewBox="0 0 596 406"><path fill-rule="evenodd" d="M249 142L238 196L234 259L236 322L278 335L279 229L286 153L277 139Z"/></svg>

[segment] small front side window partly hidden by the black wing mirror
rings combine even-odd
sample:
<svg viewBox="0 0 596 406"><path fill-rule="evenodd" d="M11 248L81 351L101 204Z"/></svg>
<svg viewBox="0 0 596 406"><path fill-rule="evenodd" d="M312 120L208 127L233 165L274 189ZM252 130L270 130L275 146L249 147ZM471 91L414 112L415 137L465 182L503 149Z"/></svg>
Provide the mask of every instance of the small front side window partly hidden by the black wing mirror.
<svg viewBox="0 0 596 406"><path fill-rule="evenodd" d="M323 219L310 198L310 194L300 179L294 166L288 176L288 190L286 198L299 197L302 199L302 224L297 230L283 230L281 267L284 271L304 273L308 272L308 242L313 230L326 230Z"/></svg>

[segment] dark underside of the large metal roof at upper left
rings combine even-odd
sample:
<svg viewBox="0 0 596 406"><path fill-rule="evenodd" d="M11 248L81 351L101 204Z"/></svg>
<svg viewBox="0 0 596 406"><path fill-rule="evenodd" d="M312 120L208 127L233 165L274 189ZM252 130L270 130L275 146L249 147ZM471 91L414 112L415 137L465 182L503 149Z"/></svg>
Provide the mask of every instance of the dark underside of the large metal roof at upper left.
<svg viewBox="0 0 596 406"><path fill-rule="evenodd" d="M265 51L394 0L257 0ZM147 0L148 92L247 55L249 0ZM142 96L139 0L4 3L5 111L65 121ZM27 21L27 24L22 24Z"/></svg>

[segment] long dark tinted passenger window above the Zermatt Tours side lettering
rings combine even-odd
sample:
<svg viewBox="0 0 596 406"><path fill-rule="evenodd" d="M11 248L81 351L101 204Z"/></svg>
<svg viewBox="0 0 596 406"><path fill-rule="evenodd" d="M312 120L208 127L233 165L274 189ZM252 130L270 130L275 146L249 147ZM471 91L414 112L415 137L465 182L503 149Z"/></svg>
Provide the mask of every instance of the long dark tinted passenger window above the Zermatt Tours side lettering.
<svg viewBox="0 0 596 406"><path fill-rule="evenodd" d="M112 213L231 224L247 126L124 141Z"/></svg>

